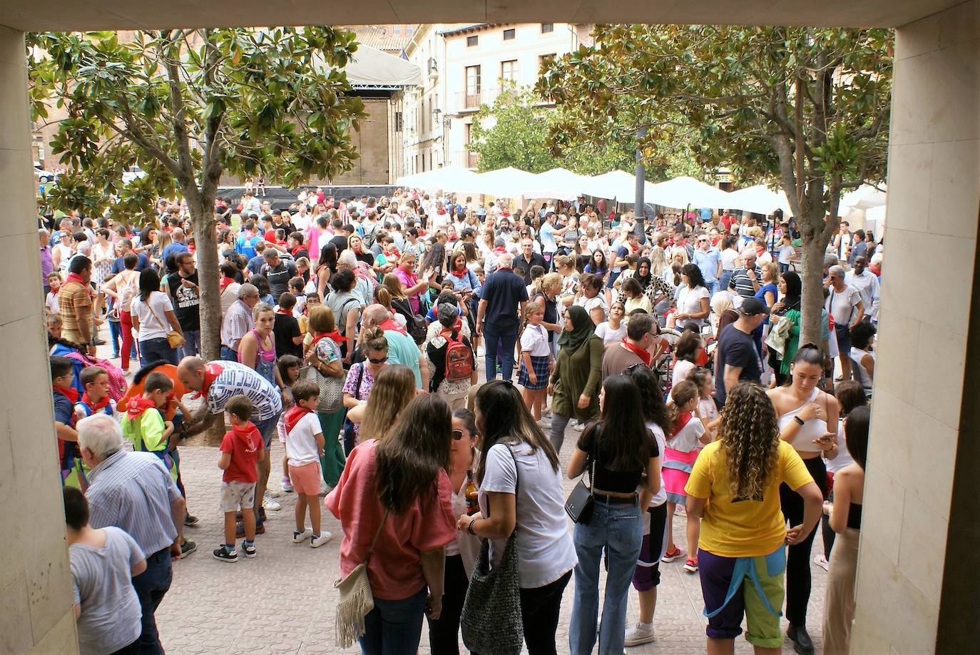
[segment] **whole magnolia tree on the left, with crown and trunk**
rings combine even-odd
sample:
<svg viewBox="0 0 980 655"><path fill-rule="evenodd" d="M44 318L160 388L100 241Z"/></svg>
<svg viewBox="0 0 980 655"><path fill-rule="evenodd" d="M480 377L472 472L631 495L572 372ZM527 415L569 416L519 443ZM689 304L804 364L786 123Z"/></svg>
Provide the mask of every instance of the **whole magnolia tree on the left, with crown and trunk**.
<svg viewBox="0 0 980 655"><path fill-rule="evenodd" d="M204 355L221 348L215 198L222 173L286 185L333 177L359 157L351 128L367 117L343 68L355 34L326 26L38 33L27 39L31 108L67 119L52 143L68 173L53 208L109 211L129 223L159 197L191 215ZM123 171L146 176L123 184Z"/></svg>

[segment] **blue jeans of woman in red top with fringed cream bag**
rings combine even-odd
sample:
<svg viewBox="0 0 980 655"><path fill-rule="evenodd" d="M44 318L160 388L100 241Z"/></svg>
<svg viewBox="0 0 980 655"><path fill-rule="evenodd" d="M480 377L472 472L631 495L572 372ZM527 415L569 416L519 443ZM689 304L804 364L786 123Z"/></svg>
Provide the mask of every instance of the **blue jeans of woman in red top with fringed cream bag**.
<svg viewBox="0 0 980 655"><path fill-rule="evenodd" d="M422 587L414 596L402 600L374 599L374 609L365 617L365 635L361 637L364 655L404 655L418 650L425 614Z"/></svg>

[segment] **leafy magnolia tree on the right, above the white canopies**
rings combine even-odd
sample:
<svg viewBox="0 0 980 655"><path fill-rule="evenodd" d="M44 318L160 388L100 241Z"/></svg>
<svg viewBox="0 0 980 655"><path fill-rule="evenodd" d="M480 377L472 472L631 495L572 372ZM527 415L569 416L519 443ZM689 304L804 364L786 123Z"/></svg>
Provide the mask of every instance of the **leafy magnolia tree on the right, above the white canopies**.
<svg viewBox="0 0 980 655"><path fill-rule="evenodd" d="M892 32L597 25L595 37L556 60L538 92L574 108L576 134L632 126L649 156L681 140L704 166L775 180L803 235L801 342L819 343L841 194L885 176Z"/></svg>

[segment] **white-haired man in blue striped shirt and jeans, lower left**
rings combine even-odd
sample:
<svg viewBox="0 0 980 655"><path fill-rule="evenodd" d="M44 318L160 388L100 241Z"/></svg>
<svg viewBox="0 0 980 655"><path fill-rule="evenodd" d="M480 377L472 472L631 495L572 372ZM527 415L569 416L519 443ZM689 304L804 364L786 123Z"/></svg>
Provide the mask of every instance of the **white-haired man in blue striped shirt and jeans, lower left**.
<svg viewBox="0 0 980 655"><path fill-rule="evenodd" d="M122 528L146 555L146 571L132 579L142 612L139 652L163 653L154 613L171 588L172 559L180 557L183 497L156 455L123 448L123 429L112 417L96 414L76 428L81 460L91 469L89 525Z"/></svg>

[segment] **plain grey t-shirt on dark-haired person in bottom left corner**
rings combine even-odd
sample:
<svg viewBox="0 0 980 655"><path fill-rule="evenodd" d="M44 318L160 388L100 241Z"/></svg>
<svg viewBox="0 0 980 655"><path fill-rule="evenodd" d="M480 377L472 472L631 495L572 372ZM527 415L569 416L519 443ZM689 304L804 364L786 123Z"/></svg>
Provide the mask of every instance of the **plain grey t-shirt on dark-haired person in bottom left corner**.
<svg viewBox="0 0 980 655"><path fill-rule="evenodd" d="M74 543L72 589L78 617L78 649L82 655L115 652L139 637L143 613L132 587L133 566L143 552L119 528L105 528L106 543L94 548Z"/></svg>

